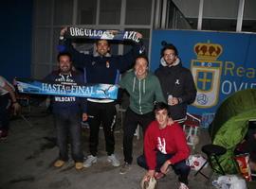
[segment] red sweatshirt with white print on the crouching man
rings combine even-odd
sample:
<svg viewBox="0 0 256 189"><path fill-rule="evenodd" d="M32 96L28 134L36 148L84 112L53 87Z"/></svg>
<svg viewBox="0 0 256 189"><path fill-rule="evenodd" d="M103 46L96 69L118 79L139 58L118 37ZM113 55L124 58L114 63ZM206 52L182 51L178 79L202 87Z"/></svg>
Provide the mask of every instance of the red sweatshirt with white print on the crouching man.
<svg viewBox="0 0 256 189"><path fill-rule="evenodd" d="M144 138L144 151L150 170L155 169L157 150L163 154L174 154L170 159L172 164L186 160L190 156L185 133L178 123L174 122L164 129L159 128L157 121L149 125Z"/></svg>

